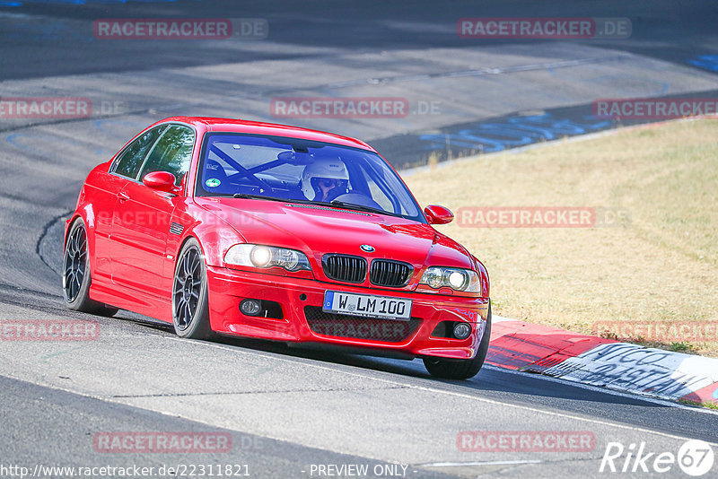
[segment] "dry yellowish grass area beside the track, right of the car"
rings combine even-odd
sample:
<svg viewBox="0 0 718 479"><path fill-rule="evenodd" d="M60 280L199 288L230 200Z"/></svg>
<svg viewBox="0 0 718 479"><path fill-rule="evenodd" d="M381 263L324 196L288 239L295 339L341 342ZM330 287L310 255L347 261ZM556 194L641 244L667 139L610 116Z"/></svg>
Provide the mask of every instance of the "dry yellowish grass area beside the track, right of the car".
<svg viewBox="0 0 718 479"><path fill-rule="evenodd" d="M455 213L588 206L629 214L611 228L437 227L486 265L497 315L586 334L595 321L718 322L718 121L477 156L406 179L422 205ZM716 343L655 345L718 356Z"/></svg>

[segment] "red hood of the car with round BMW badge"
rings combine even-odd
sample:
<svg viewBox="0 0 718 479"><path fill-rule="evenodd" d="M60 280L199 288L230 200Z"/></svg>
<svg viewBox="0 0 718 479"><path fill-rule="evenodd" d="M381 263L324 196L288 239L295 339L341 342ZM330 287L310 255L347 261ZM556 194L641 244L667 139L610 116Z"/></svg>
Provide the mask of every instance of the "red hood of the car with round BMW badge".
<svg viewBox="0 0 718 479"><path fill-rule="evenodd" d="M313 257L338 253L389 258L415 266L474 268L468 251L430 225L385 214L244 198L196 198L249 243L298 249ZM369 245L374 252L364 252Z"/></svg>

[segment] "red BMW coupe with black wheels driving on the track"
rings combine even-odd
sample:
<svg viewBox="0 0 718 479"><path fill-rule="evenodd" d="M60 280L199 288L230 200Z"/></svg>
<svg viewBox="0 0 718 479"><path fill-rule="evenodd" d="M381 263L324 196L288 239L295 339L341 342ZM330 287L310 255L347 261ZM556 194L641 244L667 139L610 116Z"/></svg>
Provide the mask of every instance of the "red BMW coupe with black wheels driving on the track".
<svg viewBox="0 0 718 479"><path fill-rule="evenodd" d="M435 231L361 141L167 118L85 180L67 221L66 304L128 309L182 337L234 335L422 358L468 379L486 358L486 268Z"/></svg>

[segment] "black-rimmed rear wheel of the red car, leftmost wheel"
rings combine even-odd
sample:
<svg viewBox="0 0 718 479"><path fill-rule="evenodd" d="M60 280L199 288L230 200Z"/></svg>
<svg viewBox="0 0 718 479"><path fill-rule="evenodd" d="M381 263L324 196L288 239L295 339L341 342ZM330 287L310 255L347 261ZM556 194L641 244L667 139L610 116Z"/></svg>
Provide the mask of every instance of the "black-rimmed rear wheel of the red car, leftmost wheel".
<svg viewBox="0 0 718 479"><path fill-rule="evenodd" d="M74 221L67 234L63 255L62 291L67 308L85 313L113 316L117 308L90 299L90 261L87 251L87 230L82 218Z"/></svg>

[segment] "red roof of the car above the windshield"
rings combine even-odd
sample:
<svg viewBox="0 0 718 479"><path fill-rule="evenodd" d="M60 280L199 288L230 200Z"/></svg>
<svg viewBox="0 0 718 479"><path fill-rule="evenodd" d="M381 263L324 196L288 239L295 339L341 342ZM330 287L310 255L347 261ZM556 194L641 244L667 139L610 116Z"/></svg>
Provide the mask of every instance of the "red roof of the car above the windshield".
<svg viewBox="0 0 718 479"><path fill-rule="evenodd" d="M370 150L372 152L376 152L371 146L369 146L369 144L365 144L361 140L350 138L348 136L322 132L319 130L300 128L299 126L287 126L278 125L275 123L263 123L259 121L211 117L171 117L165 118L162 121L158 121L155 125L169 122L188 123L190 125L200 127L204 126L206 130L210 132L289 136L291 138L301 138L302 140L312 140L331 144L353 146L355 148L361 148L363 150Z"/></svg>

